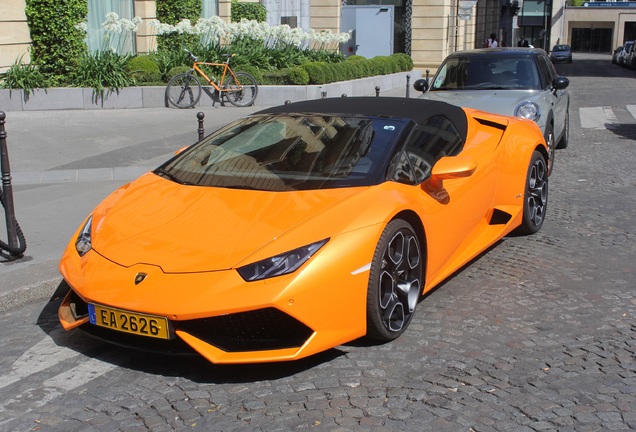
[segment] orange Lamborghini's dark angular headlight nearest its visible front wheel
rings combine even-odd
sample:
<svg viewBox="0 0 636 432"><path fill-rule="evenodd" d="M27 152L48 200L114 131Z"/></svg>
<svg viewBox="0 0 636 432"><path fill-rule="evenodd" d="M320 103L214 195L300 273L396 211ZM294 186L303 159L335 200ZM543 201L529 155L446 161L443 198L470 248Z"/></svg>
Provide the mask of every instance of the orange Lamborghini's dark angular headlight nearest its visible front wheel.
<svg viewBox="0 0 636 432"><path fill-rule="evenodd" d="M241 277L248 282L282 276L298 269L311 258L318 249L323 247L327 241L329 241L329 239L320 240L284 254L239 267L237 271Z"/></svg>

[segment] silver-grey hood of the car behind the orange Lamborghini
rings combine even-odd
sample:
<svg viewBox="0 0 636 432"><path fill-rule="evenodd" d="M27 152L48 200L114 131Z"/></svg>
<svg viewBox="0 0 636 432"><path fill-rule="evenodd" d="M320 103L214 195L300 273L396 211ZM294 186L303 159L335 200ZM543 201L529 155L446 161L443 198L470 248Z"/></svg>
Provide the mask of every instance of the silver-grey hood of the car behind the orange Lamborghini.
<svg viewBox="0 0 636 432"><path fill-rule="evenodd" d="M537 90L443 90L428 91L421 97L448 102L461 107L512 116L519 103L524 100L534 101L537 98L537 94Z"/></svg>

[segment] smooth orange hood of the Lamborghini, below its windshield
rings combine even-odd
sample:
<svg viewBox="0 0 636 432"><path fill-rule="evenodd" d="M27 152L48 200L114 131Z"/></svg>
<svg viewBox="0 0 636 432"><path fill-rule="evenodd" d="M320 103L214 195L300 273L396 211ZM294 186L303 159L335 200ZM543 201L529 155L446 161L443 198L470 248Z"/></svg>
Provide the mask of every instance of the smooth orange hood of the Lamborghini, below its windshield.
<svg viewBox="0 0 636 432"><path fill-rule="evenodd" d="M167 273L229 269L357 190L184 186L146 174L95 209L93 249L126 267L152 264Z"/></svg>

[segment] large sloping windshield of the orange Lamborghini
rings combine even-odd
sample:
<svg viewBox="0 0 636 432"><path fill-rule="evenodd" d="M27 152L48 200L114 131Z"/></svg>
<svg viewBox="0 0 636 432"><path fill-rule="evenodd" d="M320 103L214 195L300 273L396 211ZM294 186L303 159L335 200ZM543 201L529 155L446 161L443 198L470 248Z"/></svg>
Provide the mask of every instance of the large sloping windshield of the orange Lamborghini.
<svg viewBox="0 0 636 432"><path fill-rule="evenodd" d="M211 134L155 173L181 184L266 191L368 186L384 179L382 170L407 123L367 116L256 115Z"/></svg>

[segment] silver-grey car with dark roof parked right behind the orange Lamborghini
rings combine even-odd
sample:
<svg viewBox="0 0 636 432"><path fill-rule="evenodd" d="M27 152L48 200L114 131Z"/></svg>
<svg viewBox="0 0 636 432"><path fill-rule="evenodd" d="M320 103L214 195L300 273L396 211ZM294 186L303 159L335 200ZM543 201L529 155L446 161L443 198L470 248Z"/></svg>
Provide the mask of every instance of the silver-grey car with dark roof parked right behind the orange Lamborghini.
<svg viewBox="0 0 636 432"><path fill-rule="evenodd" d="M570 81L559 76L538 48L483 48L446 57L429 83L415 81L424 99L534 120L550 152L566 148L570 135Z"/></svg>

